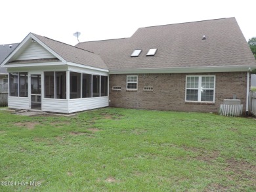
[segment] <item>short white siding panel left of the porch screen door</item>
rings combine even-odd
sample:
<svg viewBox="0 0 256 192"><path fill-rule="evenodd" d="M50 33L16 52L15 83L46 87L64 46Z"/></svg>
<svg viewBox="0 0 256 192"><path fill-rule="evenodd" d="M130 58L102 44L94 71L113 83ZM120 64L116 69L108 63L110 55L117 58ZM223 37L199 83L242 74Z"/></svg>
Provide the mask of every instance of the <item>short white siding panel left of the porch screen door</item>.
<svg viewBox="0 0 256 192"><path fill-rule="evenodd" d="M9 97L8 98L8 107L13 109L29 109L30 102L28 97L21 98L21 97Z"/></svg>

